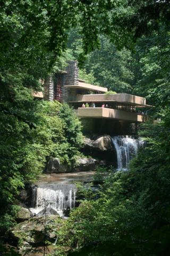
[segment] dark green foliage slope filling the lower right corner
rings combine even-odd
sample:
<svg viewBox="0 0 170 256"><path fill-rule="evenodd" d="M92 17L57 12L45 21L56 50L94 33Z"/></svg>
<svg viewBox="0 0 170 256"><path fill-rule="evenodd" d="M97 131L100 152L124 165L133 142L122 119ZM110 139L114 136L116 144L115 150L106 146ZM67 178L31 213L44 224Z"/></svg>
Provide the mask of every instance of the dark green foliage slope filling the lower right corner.
<svg viewBox="0 0 170 256"><path fill-rule="evenodd" d="M169 255L169 113L165 116L157 126L142 127L148 144L128 172L110 171L98 199L85 188L85 200L60 231L56 255L68 245L77 248L71 255Z"/></svg>

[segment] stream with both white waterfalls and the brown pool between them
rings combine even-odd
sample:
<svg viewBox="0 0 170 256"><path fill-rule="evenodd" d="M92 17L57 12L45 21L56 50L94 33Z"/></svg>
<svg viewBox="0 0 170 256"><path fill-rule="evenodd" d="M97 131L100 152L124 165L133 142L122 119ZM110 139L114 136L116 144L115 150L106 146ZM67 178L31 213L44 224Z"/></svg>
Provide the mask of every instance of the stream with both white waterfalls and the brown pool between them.
<svg viewBox="0 0 170 256"><path fill-rule="evenodd" d="M117 170L127 171L130 160L137 155L138 148L145 142L131 136L111 137L117 156ZM66 216L76 204L75 182L90 182L94 171L43 174L32 188L30 211L36 216L59 214Z"/></svg>

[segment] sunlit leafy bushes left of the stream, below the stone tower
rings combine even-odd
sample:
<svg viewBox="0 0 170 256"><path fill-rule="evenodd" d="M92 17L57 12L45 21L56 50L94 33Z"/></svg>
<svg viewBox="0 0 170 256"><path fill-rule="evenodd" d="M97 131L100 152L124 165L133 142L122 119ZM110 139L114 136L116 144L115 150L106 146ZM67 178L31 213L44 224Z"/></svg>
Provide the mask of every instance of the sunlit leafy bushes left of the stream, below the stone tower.
<svg viewBox="0 0 170 256"><path fill-rule="evenodd" d="M31 99L30 111L35 113L32 129L11 113L0 116L1 231L12 224L12 202L24 182L36 179L49 157L58 157L61 163L73 166L82 144L80 122L69 106Z"/></svg>

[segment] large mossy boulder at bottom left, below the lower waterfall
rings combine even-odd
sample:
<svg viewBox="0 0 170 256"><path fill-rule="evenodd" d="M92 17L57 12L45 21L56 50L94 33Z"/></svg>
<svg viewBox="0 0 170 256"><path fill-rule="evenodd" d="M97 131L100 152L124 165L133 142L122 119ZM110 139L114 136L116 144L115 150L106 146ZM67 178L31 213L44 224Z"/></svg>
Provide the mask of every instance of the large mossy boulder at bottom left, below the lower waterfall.
<svg viewBox="0 0 170 256"><path fill-rule="evenodd" d="M46 221L44 217L33 217L14 226L10 230L10 236L19 244L19 247L24 243L42 245L45 236L47 241L54 241L56 230L60 226L60 222L60 218L58 218L57 215L47 216Z"/></svg>

